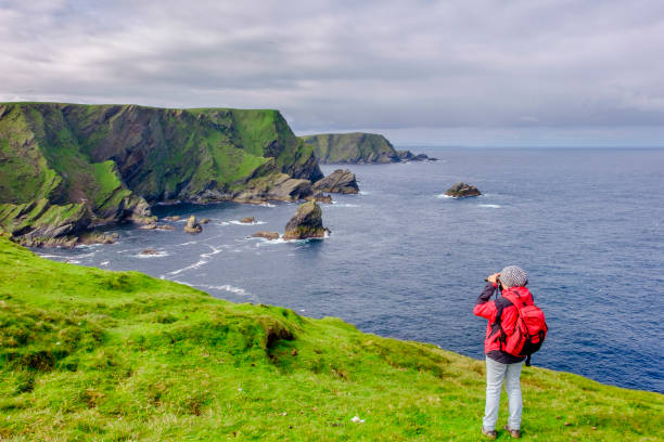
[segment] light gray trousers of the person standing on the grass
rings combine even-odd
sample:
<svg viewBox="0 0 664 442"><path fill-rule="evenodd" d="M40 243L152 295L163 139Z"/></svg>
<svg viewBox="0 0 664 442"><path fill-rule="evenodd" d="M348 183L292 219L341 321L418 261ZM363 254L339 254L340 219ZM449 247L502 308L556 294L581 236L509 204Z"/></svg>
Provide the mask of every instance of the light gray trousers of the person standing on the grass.
<svg viewBox="0 0 664 442"><path fill-rule="evenodd" d="M495 430L498 421L498 408L500 407L500 390L505 380L505 390L510 403L510 418L508 425L511 430L521 429L521 411L523 400L521 398L521 366L516 364L501 364L493 359L486 359L486 406L482 425L486 430Z"/></svg>

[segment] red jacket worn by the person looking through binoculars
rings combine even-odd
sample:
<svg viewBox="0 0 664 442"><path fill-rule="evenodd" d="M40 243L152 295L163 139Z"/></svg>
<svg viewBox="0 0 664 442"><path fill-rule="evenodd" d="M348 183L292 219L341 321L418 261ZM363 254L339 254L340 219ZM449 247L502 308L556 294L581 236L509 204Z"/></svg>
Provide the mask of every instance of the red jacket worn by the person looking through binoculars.
<svg viewBox="0 0 664 442"><path fill-rule="evenodd" d="M515 301L519 298L523 298L526 302L533 303L533 295L531 295L531 291L525 287L511 287L502 291L501 298L489 300L494 291L496 291L496 288L498 288L497 285L488 283L482 291L482 295L480 295L480 298L477 298L477 302L473 309L475 315L488 320L488 324L486 325L486 337L484 339L484 353L493 360L503 364L521 362L525 358L513 356L500 350L500 342L498 341L500 337L500 327L494 323L496 322L498 310L502 308L500 325L507 335L511 335L516 325L518 311L510 299Z"/></svg>

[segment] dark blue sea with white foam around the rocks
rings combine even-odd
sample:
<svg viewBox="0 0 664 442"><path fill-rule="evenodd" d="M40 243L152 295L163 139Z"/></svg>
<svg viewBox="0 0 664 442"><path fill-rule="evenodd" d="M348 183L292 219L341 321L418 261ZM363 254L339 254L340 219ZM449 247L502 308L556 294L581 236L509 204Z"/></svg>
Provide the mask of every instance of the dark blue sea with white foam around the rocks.
<svg viewBox="0 0 664 442"><path fill-rule="evenodd" d="M39 252L340 316L475 359L486 322L472 309L483 280L516 264L550 326L535 365L664 392L664 150L414 151L440 160L350 166L361 194L322 206L332 230L322 240L248 237L283 233L294 204L178 205L154 211L212 222L195 236L183 221L176 232L122 226L115 245ZM445 198L458 181L484 195ZM238 222L247 216L258 224ZM159 255L141 255L149 247Z"/></svg>

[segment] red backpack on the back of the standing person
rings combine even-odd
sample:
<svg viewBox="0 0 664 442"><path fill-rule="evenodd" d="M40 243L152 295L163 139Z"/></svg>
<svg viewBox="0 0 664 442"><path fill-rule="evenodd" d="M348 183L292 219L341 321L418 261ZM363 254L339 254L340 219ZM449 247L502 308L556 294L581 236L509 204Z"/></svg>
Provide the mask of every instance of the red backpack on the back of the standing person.
<svg viewBox="0 0 664 442"><path fill-rule="evenodd" d="M496 313L496 324L500 327L500 350L514 356L526 356L526 366L531 366L531 354L541 347L547 337L547 322L544 312L531 301L520 297L518 292L505 290L502 297L516 308L516 324L514 330L508 335L500 324L502 309L501 306Z"/></svg>

